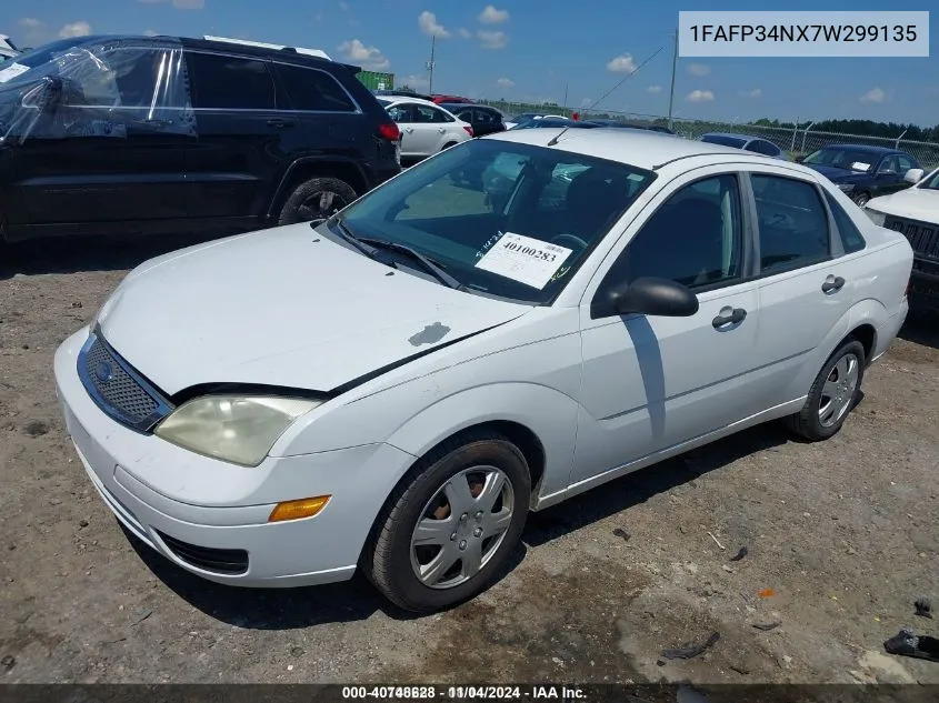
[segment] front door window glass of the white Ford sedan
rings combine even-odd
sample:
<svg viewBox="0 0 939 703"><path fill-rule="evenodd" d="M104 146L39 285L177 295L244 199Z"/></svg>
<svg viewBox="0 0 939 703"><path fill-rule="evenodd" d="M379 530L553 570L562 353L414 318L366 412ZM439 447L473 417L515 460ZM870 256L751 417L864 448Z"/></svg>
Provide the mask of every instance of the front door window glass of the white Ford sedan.
<svg viewBox="0 0 939 703"><path fill-rule="evenodd" d="M716 175L686 185L646 221L607 274L607 285L643 277L691 289L740 279L742 223L737 177Z"/></svg>

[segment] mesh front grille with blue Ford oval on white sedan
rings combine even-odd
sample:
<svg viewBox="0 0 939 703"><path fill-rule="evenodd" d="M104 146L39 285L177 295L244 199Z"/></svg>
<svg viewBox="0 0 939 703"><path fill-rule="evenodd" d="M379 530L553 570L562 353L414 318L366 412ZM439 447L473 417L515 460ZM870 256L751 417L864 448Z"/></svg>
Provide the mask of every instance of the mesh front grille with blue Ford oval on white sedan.
<svg viewBox="0 0 939 703"><path fill-rule="evenodd" d="M171 410L159 391L121 359L99 332L92 332L79 353L78 373L101 410L138 432L149 432Z"/></svg>

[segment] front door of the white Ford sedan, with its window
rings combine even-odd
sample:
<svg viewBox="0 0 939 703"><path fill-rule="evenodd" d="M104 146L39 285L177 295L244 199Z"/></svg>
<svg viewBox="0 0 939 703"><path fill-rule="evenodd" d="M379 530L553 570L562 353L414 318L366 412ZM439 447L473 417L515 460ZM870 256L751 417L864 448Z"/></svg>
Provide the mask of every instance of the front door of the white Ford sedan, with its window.
<svg viewBox="0 0 939 703"><path fill-rule="evenodd" d="M668 194L670 193L670 194ZM725 428L759 409L746 385L758 362L759 304L746 274L738 177L687 179L649 205L635 237L581 309L582 415L571 483ZM627 234L628 235L628 234ZM623 315L598 301L642 277L698 293L690 318Z"/></svg>

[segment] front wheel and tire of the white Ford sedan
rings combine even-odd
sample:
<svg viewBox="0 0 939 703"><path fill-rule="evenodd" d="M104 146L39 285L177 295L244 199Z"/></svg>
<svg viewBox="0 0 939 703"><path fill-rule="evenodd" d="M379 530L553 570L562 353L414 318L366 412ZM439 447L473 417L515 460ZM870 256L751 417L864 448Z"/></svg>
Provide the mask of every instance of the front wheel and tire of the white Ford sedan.
<svg viewBox="0 0 939 703"><path fill-rule="evenodd" d="M475 493L482 474L485 483ZM500 478L508 490L497 491ZM457 514L450 495L470 502ZM400 482L376 521L362 569L407 611L428 613L464 602L490 585L516 549L530 500L528 463L515 444L495 432L463 434L419 460ZM499 511L490 510L490 501ZM428 528L427 543L414 545L419 521ZM478 571L471 556L479 560ZM426 572L424 580L419 572Z"/></svg>

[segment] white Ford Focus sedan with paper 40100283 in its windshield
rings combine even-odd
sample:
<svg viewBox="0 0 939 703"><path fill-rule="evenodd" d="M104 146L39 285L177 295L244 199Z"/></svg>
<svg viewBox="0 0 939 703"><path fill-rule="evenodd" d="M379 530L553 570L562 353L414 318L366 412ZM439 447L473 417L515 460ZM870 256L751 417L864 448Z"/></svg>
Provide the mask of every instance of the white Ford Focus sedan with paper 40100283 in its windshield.
<svg viewBox="0 0 939 703"><path fill-rule="evenodd" d="M825 177L627 130L521 130L328 221L133 270L56 354L118 519L221 583L361 569L431 611L526 515L775 419L835 434L912 251Z"/></svg>

